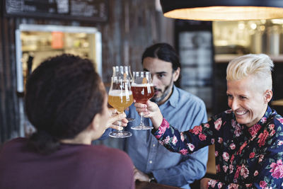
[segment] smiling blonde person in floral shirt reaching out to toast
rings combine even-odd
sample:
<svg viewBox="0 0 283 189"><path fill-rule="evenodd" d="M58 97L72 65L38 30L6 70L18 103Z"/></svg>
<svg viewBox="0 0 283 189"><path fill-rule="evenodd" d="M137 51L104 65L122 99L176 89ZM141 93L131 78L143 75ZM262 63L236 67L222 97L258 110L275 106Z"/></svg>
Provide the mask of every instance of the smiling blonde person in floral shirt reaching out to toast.
<svg viewBox="0 0 283 189"><path fill-rule="evenodd" d="M207 123L179 132L158 106L136 103L154 124L154 136L171 151L186 156L215 144L216 175L202 178L203 188L282 188L283 118L268 106L273 62L267 55L244 55L229 62L230 110Z"/></svg>

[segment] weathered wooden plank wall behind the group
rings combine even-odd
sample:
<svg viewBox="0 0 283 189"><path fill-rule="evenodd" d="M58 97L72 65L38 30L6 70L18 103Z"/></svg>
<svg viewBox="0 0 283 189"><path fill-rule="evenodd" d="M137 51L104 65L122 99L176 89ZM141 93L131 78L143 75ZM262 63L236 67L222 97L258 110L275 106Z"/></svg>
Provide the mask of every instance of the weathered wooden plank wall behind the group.
<svg viewBox="0 0 283 189"><path fill-rule="evenodd" d="M3 14L2 4L0 5ZM23 135L23 98L16 95L15 29L21 23L96 27L102 35L103 81L110 82L112 66L141 70L141 54L155 42L173 45L173 20L156 11L153 0L109 0L105 23L0 17L0 144Z"/></svg>

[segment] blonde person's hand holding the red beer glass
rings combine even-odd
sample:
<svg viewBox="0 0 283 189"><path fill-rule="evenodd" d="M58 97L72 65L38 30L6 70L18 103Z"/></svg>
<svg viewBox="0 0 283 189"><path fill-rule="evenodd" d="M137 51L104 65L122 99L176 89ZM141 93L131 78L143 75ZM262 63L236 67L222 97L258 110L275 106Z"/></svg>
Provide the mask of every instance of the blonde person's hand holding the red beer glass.
<svg viewBox="0 0 283 189"><path fill-rule="evenodd" d="M144 118L151 118L151 122L154 125L154 128L158 130L158 127L161 125L163 120L163 115L161 114L160 109L156 103L147 101L144 103L134 103L137 112L139 115L143 115Z"/></svg>

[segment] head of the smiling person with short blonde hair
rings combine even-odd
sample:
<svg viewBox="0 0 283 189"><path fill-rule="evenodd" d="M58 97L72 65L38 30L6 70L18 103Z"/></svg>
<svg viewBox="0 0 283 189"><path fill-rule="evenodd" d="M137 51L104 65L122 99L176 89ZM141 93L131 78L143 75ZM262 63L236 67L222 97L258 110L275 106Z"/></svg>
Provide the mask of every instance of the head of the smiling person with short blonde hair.
<svg viewBox="0 0 283 189"><path fill-rule="evenodd" d="M262 118L272 98L273 63L267 55L245 55L227 67L228 105L238 123L250 127Z"/></svg>

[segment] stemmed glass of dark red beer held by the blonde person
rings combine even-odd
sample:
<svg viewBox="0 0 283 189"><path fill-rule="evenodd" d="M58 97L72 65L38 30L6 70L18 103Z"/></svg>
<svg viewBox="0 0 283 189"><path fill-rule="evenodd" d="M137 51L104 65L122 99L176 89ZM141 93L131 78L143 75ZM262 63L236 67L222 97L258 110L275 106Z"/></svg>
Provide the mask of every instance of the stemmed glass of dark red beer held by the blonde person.
<svg viewBox="0 0 283 189"><path fill-rule="evenodd" d="M149 71L134 71L132 81L132 93L137 103L146 103L154 96L154 84L152 84ZM141 113L141 122L138 126L131 127L132 130L151 130L154 127L144 125L144 117Z"/></svg>

